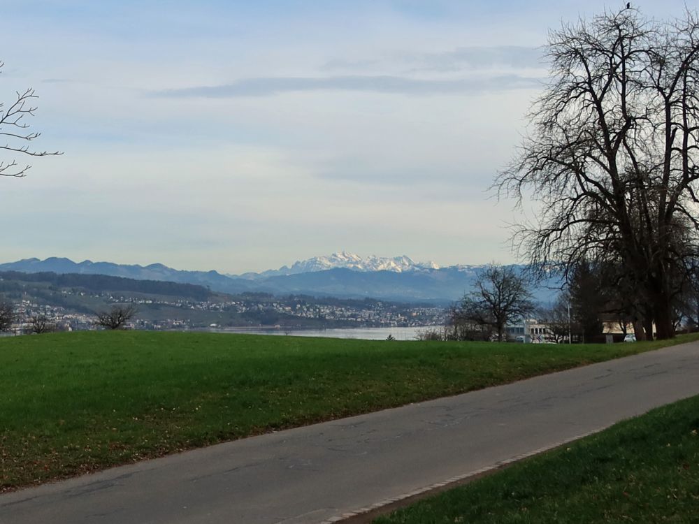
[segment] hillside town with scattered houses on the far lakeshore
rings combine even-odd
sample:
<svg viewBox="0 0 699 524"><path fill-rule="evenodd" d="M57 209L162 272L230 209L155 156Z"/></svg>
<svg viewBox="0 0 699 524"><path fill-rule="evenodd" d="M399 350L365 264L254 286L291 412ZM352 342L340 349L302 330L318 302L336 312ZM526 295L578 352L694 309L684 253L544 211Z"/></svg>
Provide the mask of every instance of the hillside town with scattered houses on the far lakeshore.
<svg viewBox="0 0 699 524"><path fill-rule="evenodd" d="M8 276L13 278L8 279ZM97 282L97 277L75 277L80 277L84 286L20 282L18 279L29 277L3 274L0 277L0 291L3 291L6 300L12 300L15 305L13 326L8 333L31 332L36 319L42 319L52 330L96 329L97 314L114 305L134 306L136 314L125 327L144 330L419 327L443 324L447 316L443 307L369 298L279 297L269 293L231 296L206 290L206 298L192 298L159 295L163 292L161 289L151 293L140 288L134 291L91 290L88 288ZM143 281L117 277L100 276L99 279L100 282L108 279L107 286L119 286L120 281L136 286L143 284ZM177 290L182 289L182 293L198 287L189 284L173 286L178 286L175 288Z"/></svg>

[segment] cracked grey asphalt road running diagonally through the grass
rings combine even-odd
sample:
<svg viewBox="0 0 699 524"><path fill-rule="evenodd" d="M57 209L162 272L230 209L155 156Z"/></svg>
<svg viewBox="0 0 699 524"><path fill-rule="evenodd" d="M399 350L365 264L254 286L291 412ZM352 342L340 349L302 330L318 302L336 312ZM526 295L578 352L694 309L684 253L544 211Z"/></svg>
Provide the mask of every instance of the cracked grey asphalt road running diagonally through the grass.
<svg viewBox="0 0 699 524"><path fill-rule="evenodd" d="M333 521L697 394L683 344L8 493L0 523Z"/></svg>

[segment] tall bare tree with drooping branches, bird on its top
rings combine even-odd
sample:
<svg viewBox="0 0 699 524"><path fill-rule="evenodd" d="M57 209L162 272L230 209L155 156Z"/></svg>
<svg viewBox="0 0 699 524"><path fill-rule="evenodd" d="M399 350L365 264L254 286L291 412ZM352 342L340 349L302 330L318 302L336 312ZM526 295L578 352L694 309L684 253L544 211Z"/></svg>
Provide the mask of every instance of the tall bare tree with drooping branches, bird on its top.
<svg viewBox="0 0 699 524"><path fill-rule="evenodd" d="M495 182L500 196L540 201L517 243L565 275L584 259L625 268L650 306L644 325L672 337L673 298L699 253L698 16L605 13L552 31L547 49L532 132Z"/></svg>

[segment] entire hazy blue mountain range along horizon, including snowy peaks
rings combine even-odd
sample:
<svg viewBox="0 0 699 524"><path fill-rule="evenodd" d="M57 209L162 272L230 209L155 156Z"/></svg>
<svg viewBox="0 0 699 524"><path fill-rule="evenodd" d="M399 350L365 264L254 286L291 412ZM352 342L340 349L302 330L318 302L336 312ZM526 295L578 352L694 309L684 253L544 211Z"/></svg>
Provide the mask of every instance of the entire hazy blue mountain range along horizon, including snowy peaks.
<svg viewBox="0 0 699 524"><path fill-rule="evenodd" d="M440 268L435 263L416 263L408 256L362 258L347 252L297 261L278 270L243 275L224 275L217 271L187 271L155 263L129 265L111 262L80 263L51 257L45 260L23 259L0 264L3 271L56 272L110 275L142 280L161 280L199 284L222 293L290 293L338 298L378 298L400 302L447 304L470 291L482 265L452 265ZM523 266L517 266L523 269ZM540 302L549 302L556 282L545 282L534 290Z"/></svg>

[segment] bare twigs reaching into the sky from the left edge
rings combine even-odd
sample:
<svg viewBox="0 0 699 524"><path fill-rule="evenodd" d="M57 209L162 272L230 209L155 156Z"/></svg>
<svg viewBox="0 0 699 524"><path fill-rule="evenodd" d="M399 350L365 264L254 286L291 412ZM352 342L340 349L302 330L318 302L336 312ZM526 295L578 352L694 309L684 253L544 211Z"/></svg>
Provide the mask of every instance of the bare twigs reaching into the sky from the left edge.
<svg viewBox="0 0 699 524"><path fill-rule="evenodd" d="M0 61L0 68L3 66ZM29 157L46 157L48 155L62 154L58 151L36 151L29 147L29 143L41 136L41 133L29 131L30 124L25 117L33 117L36 112L34 100L38 98L34 89L28 88L24 91L15 92L17 98L5 108L5 103L0 102L0 149L13 152L15 154L27 155ZM24 177L31 166L24 166L17 163L15 159L0 161L0 176L3 177Z"/></svg>

